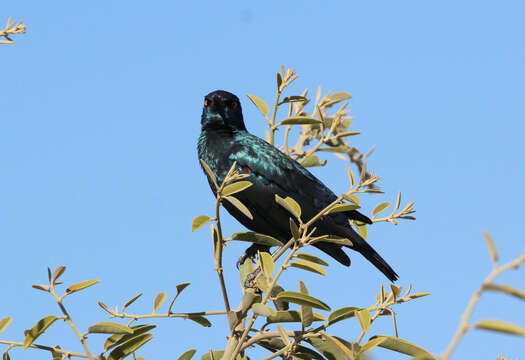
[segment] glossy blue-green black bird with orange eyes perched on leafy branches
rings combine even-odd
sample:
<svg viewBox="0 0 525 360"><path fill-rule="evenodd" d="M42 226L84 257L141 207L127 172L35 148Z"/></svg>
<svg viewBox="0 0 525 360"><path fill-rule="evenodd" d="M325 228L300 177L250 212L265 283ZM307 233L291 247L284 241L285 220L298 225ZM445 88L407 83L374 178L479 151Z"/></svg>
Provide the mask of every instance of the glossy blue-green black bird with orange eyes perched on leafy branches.
<svg viewBox="0 0 525 360"><path fill-rule="evenodd" d="M240 174L248 174L244 180L250 181L252 186L233 196L248 208L252 218L228 201L224 201L222 205L249 230L272 236L283 244L292 238L291 216L276 202L275 195L294 199L302 209L303 222L313 218L337 199L337 196L305 167L265 140L249 133L244 123L239 98L230 92L216 90L204 97L201 134L197 148L199 159L208 165L219 184L224 181L234 163ZM213 180L206 173L202 162L201 167L212 192L217 196ZM352 229L350 220L372 223L357 210L331 213L313 224L316 227L313 235L347 238L352 246L322 241L314 243L313 246L345 266L350 266L350 258L343 251L343 247L349 247L361 253L390 281L396 281L396 272ZM257 251L269 251L269 248L253 244L245 255L254 257Z"/></svg>

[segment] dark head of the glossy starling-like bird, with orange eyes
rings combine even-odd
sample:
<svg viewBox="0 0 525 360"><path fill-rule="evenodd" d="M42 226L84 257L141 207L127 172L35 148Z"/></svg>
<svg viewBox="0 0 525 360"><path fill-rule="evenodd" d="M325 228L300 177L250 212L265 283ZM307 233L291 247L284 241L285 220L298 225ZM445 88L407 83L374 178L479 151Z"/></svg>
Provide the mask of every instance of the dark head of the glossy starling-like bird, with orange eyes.
<svg viewBox="0 0 525 360"><path fill-rule="evenodd" d="M203 129L226 126L235 130L246 130L239 98L224 90L216 90L206 95L201 125Z"/></svg>

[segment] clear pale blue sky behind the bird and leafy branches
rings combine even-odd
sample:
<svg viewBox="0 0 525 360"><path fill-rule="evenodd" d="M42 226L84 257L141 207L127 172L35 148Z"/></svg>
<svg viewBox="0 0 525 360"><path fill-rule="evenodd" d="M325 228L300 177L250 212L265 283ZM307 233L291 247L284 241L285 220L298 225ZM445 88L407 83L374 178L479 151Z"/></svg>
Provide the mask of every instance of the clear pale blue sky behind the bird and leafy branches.
<svg viewBox="0 0 525 360"><path fill-rule="evenodd" d="M3 2L1 21L23 19L28 33L0 47L0 316L13 316L2 339L23 339L42 315L57 314L46 267L66 265L66 284L99 278L67 306L82 329L106 319L97 306L123 302L151 311L159 291L192 282L176 311L220 309L206 229L191 220L211 214L213 198L198 166L203 96L237 93L248 128L265 123L245 94L271 102L281 64L304 88L353 94L352 138L382 176L385 196L365 197L365 211L400 190L415 201L417 221L378 224L369 241L400 274L431 296L397 307L400 336L432 352L452 338L468 299L491 270L482 228L501 261L525 249L525 6L518 1ZM315 174L335 192L347 188L340 160ZM225 232L241 229L225 216ZM226 250L232 302L240 299ZM326 257L325 257L326 258ZM357 254L350 269L331 263L329 277L291 270L284 285L333 308L367 306L385 278ZM525 289L524 271L498 279ZM487 294L473 320L525 326L525 303ZM226 323L212 328L179 319L156 321L140 352L175 359L189 348L221 349ZM356 321L334 327L355 339ZM391 320L371 334L392 334ZM93 335L93 348L102 341ZM65 324L39 343L80 350ZM524 338L469 333L455 359L525 358ZM265 352L254 352L252 358ZM374 359L404 359L386 350ZM40 359L39 351L12 351Z"/></svg>

